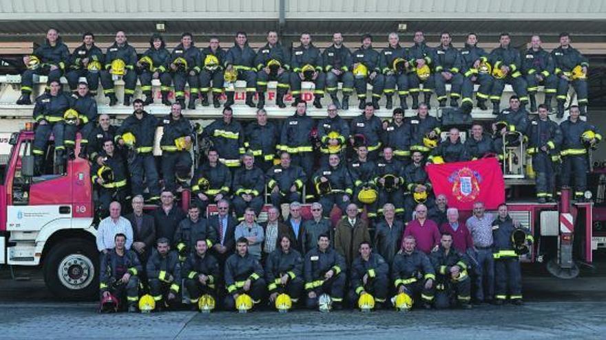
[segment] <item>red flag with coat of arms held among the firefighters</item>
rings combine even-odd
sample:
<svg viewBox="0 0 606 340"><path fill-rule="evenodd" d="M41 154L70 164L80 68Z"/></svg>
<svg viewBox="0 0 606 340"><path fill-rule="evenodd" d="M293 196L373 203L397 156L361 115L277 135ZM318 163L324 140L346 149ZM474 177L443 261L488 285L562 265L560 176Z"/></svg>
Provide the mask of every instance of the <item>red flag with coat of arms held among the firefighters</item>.
<svg viewBox="0 0 606 340"><path fill-rule="evenodd" d="M473 203L479 201L486 209L497 209L505 201L503 172L494 157L429 164L426 170L434 194L445 194L449 207L473 209Z"/></svg>

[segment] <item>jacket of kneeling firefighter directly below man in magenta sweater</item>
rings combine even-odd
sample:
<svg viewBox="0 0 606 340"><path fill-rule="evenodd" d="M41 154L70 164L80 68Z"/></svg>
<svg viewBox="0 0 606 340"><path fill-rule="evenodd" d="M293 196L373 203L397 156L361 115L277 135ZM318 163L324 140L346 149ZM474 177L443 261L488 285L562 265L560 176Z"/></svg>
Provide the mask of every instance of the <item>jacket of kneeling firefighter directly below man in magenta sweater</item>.
<svg viewBox="0 0 606 340"><path fill-rule="evenodd" d="M414 284L417 280L435 280L435 270L424 252L397 253L391 264L391 279L396 288L402 284Z"/></svg>

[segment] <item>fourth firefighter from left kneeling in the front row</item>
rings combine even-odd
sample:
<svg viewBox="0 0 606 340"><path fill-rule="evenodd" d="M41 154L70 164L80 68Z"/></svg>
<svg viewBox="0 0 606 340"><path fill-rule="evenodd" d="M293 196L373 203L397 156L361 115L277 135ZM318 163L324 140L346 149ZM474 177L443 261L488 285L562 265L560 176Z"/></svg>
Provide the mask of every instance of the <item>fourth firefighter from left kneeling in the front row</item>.
<svg viewBox="0 0 606 340"><path fill-rule="evenodd" d="M236 240L236 252L233 253L225 262L225 310L233 310L236 306L236 299L240 294L248 294L253 300L253 304L259 304L264 297L265 272L261 263L255 256L248 251L248 240L238 238Z"/></svg>

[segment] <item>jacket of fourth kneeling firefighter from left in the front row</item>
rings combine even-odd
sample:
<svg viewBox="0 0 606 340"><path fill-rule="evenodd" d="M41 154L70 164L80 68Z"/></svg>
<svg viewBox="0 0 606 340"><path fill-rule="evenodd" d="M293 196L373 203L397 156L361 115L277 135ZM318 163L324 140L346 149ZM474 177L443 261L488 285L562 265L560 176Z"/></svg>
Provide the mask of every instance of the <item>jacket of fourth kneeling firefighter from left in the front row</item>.
<svg viewBox="0 0 606 340"><path fill-rule="evenodd" d="M236 294L247 280L255 281L264 276L263 267L255 256L233 253L225 262L225 287L227 293Z"/></svg>

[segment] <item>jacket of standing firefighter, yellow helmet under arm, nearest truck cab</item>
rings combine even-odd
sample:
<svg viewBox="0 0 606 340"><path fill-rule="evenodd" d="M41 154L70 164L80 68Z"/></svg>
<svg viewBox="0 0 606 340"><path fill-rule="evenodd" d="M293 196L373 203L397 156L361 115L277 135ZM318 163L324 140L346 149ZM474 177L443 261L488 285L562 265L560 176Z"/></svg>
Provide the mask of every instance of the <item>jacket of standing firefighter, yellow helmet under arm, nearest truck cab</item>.
<svg viewBox="0 0 606 340"><path fill-rule="evenodd" d="M133 113L122 122L114 138L118 141L125 133L132 133L135 136L134 148L136 152L149 153L154 150L157 126L158 118L154 115L143 111L143 117L138 119Z"/></svg>

